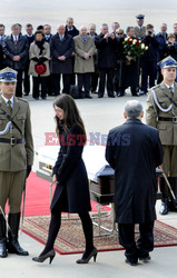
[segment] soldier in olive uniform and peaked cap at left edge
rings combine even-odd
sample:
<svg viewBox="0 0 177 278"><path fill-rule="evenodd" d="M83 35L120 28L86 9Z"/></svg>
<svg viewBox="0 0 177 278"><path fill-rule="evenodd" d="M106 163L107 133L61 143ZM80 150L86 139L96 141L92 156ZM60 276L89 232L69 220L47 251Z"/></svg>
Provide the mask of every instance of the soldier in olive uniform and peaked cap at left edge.
<svg viewBox="0 0 177 278"><path fill-rule="evenodd" d="M20 207L26 178L33 163L29 103L14 97L17 71L0 71L0 258L9 254L28 256L18 241ZM8 200L9 216L4 207ZM8 238L7 238L8 226Z"/></svg>

